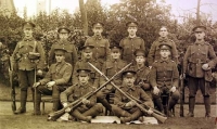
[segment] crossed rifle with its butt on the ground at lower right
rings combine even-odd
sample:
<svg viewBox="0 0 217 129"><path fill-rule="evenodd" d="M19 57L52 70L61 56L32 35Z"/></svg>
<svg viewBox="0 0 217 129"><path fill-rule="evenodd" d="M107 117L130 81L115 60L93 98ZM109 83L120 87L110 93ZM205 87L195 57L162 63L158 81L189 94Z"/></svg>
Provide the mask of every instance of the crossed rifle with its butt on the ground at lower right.
<svg viewBox="0 0 217 129"><path fill-rule="evenodd" d="M101 76L103 76L106 80L110 80L102 72L100 72L94 65L92 65L91 63L88 62L88 64L94 68ZM133 98L131 98L131 95L129 95L128 93L125 93L122 89L119 89L113 81L111 81L111 85L113 85L115 87L116 90L118 90L123 95L125 95L127 99L129 99L130 101L135 101ZM138 103L138 101L136 100L136 105L137 107L139 107L143 113L148 113L148 109L144 108L142 105L140 105ZM149 106L146 106L149 107ZM165 122L165 120L167 119L167 117L161 116L158 114L156 114L155 112L152 113L152 116L155 117L158 121L161 122Z"/></svg>

